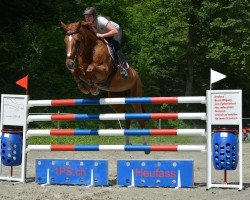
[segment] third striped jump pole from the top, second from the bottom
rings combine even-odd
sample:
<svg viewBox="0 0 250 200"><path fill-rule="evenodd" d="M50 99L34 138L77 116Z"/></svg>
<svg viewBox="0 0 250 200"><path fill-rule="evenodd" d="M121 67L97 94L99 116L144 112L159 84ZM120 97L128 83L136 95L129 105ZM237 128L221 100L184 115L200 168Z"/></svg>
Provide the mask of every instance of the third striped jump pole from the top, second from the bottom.
<svg viewBox="0 0 250 200"><path fill-rule="evenodd" d="M139 136L139 135L178 135L205 136L205 129L39 129L28 130L27 136Z"/></svg>

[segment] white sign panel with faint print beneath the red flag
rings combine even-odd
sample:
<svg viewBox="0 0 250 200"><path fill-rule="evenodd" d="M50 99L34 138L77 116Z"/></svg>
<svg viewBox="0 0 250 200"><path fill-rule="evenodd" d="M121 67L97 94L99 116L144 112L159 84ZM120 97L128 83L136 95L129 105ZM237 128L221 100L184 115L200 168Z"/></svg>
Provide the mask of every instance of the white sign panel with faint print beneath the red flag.
<svg viewBox="0 0 250 200"><path fill-rule="evenodd" d="M24 126L27 118L26 95L2 95L1 124Z"/></svg>

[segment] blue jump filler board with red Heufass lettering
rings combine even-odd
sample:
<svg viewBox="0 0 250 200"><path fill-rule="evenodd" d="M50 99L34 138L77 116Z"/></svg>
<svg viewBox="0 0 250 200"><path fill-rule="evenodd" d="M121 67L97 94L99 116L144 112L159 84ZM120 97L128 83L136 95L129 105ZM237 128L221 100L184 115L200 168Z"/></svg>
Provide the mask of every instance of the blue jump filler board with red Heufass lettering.
<svg viewBox="0 0 250 200"><path fill-rule="evenodd" d="M193 187L193 160L118 160L117 185Z"/></svg>

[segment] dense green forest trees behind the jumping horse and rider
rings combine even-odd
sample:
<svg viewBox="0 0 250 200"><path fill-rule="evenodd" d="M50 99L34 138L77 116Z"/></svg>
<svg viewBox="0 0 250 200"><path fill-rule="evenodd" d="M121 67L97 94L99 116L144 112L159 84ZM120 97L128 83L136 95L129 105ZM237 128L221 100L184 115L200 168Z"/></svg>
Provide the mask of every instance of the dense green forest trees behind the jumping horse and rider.
<svg viewBox="0 0 250 200"><path fill-rule="evenodd" d="M92 98L77 89L65 66L65 33L60 26L61 21L82 20L82 12L89 6L122 27L123 52L142 79L144 96L205 96L212 68L227 75L213 89L241 89L243 117L250 117L248 0L1 0L1 94L24 94L15 82L29 75L32 100ZM101 92L99 97L107 97L107 93ZM147 111L183 108L205 110L204 106L162 105L148 106ZM32 112L38 110L112 112L96 106ZM96 123L88 122L88 126L96 127Z"/></svg>

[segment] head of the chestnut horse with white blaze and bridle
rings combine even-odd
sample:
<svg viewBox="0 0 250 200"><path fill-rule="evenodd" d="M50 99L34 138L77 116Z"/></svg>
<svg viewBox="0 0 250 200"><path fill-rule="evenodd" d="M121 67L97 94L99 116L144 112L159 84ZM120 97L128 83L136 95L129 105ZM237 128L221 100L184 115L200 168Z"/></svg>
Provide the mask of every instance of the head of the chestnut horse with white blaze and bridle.
<svg viewBox="0 0 250 200"><path fill-rule="evenodd" d="M77 67L76 60L82 42L82 36L79 33L81 22L79 21L67 25L61 22L61 25L66 32L64 38L64 42L66 44L66 66L69 70L73 70Z"/></svg>

